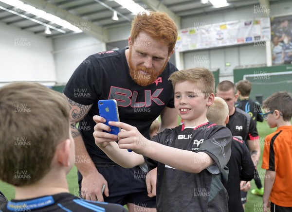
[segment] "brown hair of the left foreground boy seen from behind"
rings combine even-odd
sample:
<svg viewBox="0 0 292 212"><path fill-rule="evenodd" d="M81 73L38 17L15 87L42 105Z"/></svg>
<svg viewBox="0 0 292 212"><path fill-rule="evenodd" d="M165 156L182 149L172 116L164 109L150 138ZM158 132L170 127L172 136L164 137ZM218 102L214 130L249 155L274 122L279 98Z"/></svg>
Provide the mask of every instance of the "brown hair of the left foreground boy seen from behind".
<svg viewBox="0 0 292 212"><path fill-rule="evenodd" d="M44 177L59 142L69 139L65 97L38 83L0 88L0 179L14 186Z"/></svg>

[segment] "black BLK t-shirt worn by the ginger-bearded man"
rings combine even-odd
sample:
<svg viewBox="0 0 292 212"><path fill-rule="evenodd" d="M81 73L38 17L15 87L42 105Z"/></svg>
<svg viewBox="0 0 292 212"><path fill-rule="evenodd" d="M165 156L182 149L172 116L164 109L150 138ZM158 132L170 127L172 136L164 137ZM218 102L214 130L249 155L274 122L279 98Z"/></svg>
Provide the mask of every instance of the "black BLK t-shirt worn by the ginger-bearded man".
<svg viewBox="0 0 292 212"><path fill-rule="evenodd" d="M168 62L155 82L142 87L129 74L125 51L126 48L89 56L74 71L63 90L76 103L93 104L86 117L79 122L78 129L97 167L116 165L97 147L92 136L95 126L92 117L99 114L98 100L115 99L120 121L136 126L146 138L149 138L150 125L164 107L174 107L173 87L168 77L177 68Z"/></svg>

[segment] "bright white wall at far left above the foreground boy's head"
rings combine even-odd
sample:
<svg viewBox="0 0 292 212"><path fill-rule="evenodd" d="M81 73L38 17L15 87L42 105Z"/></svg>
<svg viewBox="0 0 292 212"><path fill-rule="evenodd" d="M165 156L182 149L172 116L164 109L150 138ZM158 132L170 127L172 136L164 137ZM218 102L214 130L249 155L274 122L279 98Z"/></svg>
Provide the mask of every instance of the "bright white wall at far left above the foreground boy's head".
<svg viewBox="0 0 292 212"><path fill-rule="evenodd" d="M52 51L51 39L0 22L0 86L24 80L54 85Z"/></svg>

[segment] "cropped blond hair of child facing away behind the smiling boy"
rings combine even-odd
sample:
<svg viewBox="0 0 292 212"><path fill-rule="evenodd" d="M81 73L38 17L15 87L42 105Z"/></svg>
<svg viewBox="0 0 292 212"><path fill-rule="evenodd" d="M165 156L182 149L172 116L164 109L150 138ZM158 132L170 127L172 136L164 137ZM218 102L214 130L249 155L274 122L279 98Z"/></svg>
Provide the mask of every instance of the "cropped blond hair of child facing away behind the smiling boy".
<svg viewBox="0 0 292 212"><path fill-rule="evenodd" d="M207 119L219 125L225 125L229 109L225 100L215 97L214 103L207 110Z"/></svg>

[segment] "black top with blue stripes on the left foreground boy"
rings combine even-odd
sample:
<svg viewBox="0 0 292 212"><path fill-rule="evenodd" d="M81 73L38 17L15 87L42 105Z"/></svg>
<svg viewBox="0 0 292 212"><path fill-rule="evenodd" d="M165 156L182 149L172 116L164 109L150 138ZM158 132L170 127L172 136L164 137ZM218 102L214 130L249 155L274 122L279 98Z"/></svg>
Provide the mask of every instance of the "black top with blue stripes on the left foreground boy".
<svg viewBox="0 0 292 212"><path fill-rule="evenodd" d="M11 200L2 210L3 212L127 212L118 204L84 200L69 193Z"/></svg>

